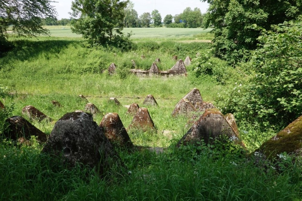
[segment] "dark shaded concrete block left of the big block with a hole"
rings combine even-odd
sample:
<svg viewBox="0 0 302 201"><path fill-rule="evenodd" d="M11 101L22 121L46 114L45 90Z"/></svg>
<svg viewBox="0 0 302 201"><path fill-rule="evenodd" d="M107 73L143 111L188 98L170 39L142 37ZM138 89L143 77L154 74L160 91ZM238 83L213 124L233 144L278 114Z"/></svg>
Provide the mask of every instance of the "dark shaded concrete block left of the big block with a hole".
<svg viewBox="0 0 302 201"><path fill-rule="evenodd" d="M30 143L27 140L31 136L36 136L39 143L45 143L47 135L41 130L32 125L29 121L20 116L12 116L5 120L8 127L4 130L3 134L7 139L16 140L19 143Z"/></svg>

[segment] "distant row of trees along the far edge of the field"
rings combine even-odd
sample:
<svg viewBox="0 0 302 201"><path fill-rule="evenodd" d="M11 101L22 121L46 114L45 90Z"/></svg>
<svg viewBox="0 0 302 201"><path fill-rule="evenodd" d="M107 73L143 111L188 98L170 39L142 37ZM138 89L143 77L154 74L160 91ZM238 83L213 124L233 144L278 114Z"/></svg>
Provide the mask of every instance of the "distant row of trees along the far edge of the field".
<svg viewBox="0 0 302 201"><path fill-rule="evenodd" d="M202 27L204 15L199 8L190 7L172 16L168 14L164 17L162 22L162 16L158 10L154 10L151 13L145 12L138 16L137 11L134 9L134 4L129 2L124 9L124 27L172 27L172 28L197 28Z"/></svg>

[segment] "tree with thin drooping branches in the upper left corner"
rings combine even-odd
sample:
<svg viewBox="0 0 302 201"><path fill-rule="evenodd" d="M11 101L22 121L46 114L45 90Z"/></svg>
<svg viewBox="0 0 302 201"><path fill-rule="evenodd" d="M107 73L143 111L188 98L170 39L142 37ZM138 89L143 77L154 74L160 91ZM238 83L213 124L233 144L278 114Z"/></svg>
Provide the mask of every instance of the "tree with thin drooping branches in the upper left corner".
<svg viewBox="0 0 302 201"><path fill-rule="evenodd" d="M6 31L11 25L18 36L48 34L42 27L43 18L56 20L56 11L50 0L1 0L0 1L0 42L7 40Z"/></svg>

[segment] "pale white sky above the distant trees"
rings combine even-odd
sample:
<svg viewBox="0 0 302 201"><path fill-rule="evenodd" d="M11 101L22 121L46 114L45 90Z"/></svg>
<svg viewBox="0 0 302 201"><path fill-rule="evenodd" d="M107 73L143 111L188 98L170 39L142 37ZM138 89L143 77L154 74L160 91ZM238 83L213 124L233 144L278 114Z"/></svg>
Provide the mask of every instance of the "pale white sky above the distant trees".
<svg viewBox="0 0 302 201"><path fill-rule="evenodd" d="M57 19L70 18L68 12L71 12L72 0L56 0L51 5L55 6L58 13ZM208 4L199 0L131 0L134 3L134 9L137 11L138 16L145 12L151 12L155 9L159 11L162 16L162 20L167 14L174 16L175 14L182 13L185 8L191 7L200 8L201 13L205 13L208 8Z"/></svg>

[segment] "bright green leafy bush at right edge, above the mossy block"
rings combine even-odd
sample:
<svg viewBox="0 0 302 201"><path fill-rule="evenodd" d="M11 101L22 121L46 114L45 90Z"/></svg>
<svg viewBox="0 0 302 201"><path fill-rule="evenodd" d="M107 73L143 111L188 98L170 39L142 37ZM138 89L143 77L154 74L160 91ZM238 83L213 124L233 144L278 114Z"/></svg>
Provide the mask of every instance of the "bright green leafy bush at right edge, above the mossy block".
<svg viewBox="0 0 302 201"><path fill-rule="evenodd" d="M301 35L299 19L279 24L274 32L259 37L263 45L245 65L255 73L228 105L237 118L285 126L302 114Z"/></svg>

